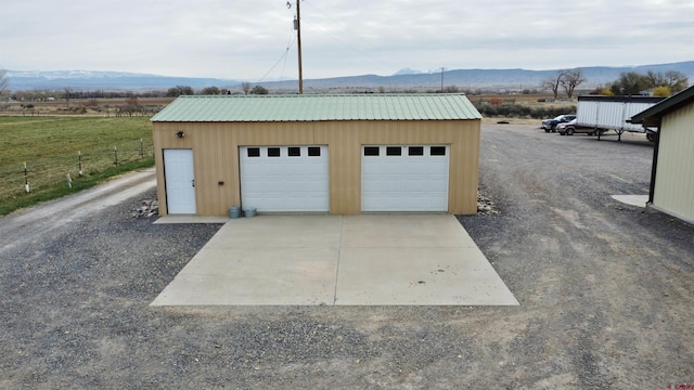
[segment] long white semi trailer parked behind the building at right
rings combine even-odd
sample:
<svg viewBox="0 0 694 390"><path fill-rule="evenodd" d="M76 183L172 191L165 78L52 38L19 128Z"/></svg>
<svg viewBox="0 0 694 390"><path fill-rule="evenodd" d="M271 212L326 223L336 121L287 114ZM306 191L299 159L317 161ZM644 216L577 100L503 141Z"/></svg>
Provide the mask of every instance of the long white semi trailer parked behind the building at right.
<svg viewBox="0 0 694 390"><path fill-rule="evenodd" d="M646 133L648 140L652 140L655 129L629 123L627 119L664 99L659 96L578 96L576 125L595 129L594 133L597 134L597 140L611 130L617 133L619 141L621 141L621 134L625 131Z"/></svg>

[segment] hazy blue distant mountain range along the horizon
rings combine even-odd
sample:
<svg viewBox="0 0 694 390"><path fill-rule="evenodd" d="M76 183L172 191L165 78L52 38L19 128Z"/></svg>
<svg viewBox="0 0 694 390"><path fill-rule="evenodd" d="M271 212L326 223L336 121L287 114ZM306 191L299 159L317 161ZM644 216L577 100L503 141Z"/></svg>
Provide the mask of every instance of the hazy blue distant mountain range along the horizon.
<svg viewBox="0 0 694 390"><path fill-rule="evenodd" d="M637 72L644 74L648 70L668 72L676 70L689 77L690 83L694 82L694 61L655 64L642 66L590 66L581 67L586 82L581 89L595 88L596 86L614 81L624 72ZM493 89L493 90L522 90L538 88L539 83L548 77L554 76L552 70L528 69L451 69L441 75L440 72L422 73L411 68L402 68L393 76L361 75L334 77L325 79L305 79L304 88L309 92L344 92L344 91L399 91L399 90L438 90L441 87L455 86L460 89ZM163 90L176 86L188 86L194 89L205 87L218 87L240 89L241 81L232 79L215 78L187 78L167 77L157 75L118 73L118 72L89 72L89 70L62 70L62 72L18 72L8 70L10 76L10 89L33 90L64 88L83 90L134 90L150 89ZM441 80L442 76L442 80ZM254 83L256 84L256 83ZM278 91L296 91L297 80L265 81L259 82L265 88Z"/></svg>

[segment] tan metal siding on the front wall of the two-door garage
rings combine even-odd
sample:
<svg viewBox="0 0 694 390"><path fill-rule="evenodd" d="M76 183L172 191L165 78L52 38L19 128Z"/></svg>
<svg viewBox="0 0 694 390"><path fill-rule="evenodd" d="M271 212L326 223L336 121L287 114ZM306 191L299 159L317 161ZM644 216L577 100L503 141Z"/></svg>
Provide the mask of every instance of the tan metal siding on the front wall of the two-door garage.
<svg viewBox="0 0 694 390"><path fill-rule="evenodd" d="M327 145L331 213L361 212L361 146L450 145L449 212L477 211L480 121L154 122L157 191L167 213L163 148L193 148L200 214L226 214L241 202L239 146ZM179 139L179 130L185 136ZM219 184L223 182L223 184Z"/></svg>

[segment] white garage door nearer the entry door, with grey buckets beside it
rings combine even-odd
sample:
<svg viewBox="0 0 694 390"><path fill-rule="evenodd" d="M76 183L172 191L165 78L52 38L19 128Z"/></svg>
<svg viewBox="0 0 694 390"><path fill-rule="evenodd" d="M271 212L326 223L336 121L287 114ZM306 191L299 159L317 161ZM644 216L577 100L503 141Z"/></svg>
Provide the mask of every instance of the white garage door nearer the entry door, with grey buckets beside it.
<svg viewBox="0 0 694 390"><path fill-rule="evenodd" d="M258 211L329 211L327 146L242 146L241 204Z"/></svg>

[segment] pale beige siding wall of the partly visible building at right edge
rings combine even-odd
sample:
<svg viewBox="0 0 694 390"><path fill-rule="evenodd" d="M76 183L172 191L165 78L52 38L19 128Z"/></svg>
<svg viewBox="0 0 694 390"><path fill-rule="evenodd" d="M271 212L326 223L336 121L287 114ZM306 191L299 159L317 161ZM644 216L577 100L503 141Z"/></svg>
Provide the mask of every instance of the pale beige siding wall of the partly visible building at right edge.
<svg viewBox="0 0 694 390"><path fill-rule="evenodd" d="M694 103L663 118L659 142L653 204L694 221Z"/></svg>

